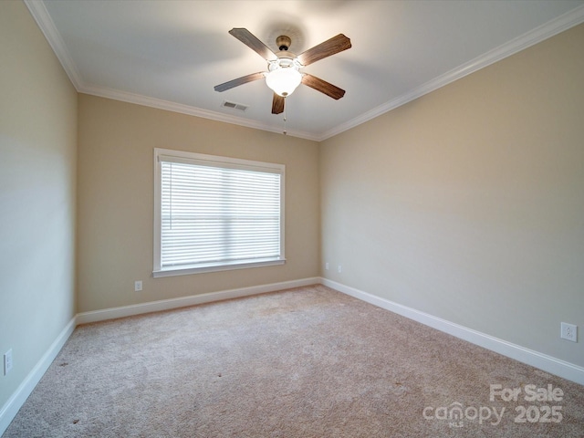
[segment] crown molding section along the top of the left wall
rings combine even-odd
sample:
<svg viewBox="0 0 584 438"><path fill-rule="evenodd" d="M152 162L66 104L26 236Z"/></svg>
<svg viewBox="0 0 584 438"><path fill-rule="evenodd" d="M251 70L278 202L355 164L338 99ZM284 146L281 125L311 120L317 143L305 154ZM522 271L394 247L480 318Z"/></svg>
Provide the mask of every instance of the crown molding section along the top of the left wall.
<svg viewBox="0 0 584 438"><path fill-rule="evenodd" d="M55 55L57 55L73 87L79 90L83 85L81 75L79 75L73 58L69 55L61 34L58 33L57 26L55 26L51 16L48 15L45 3L41 0L24 0L24 2L31 16L35 19L36 25L47 39L48 45L53 49Z"/></svg>

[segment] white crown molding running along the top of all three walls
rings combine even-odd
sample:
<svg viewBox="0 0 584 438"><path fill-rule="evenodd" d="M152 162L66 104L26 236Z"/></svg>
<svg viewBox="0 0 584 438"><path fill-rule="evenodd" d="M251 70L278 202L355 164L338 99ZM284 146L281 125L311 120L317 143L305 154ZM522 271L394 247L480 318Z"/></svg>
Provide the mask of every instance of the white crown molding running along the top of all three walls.
<svg viewBox="0 0 584 438"><path fill-rule="evenodd" d="M57 31L57 27L53 23L51 17L48 15L47 7L45 6L44 2L42 0L24 0L24 2L28 7L31 15L35 18L36 24L40 27L41 31L47 38L48 44L50 47L52 47L61 65L67 72L69 79L73 83L73 86L78 90L78 92L108 99L135 103L160 110L179 112L195 117L202 117L203 119L223 121L225 123L245 126L255 130L266 130L269 132L282 133L282 130L279 128L276 129L274 126L270 126L255 120L248 120L229 114L203 110L200 108L191 107L189 105L174 103L168 100L155 99L126 91L120 91L117 89L107 89L104 87L85 84L78 73L78 69L73 62L73 59L68 53L63 39ZM359 126L366 121L375 119L376 117L379 117L386 112L395 110L396 108L401 107L401 105L411 102L414 99L421 98L423 95L428 94L436 89L440 89L457 79L464 78L465 76L470 75L471 73L474 73L481 68L485 68L497 61L500 61L501 59L510 57L511 55L514 55L517 52L526 49L527 47L534 46L551 36L558 35L560 32L568 30L570 27L578 26L582 22L584 22L584 5L580 5L562 16L558 16L557 18L548 21L542 26L538 26L526 34L512 39L506 44L495 47L493 50L489 50L480 57L475 57L471 61L464 63L463 65L454 68L437 78L433 78L425 84L422 84L422 86L416 89L412 89L412 91L403 94L396 99L391 99L390 101L380 105L377 108L374 108L373 110L369 110L354 119L341 123L332 130L328 130L321 134L312 134L310 132L301 130L288 130L287 135L311 141L325 141L331 137L334 137L335 135L340 134L341 132L344 132L345 130L350 130L351 128Z"/></svg>

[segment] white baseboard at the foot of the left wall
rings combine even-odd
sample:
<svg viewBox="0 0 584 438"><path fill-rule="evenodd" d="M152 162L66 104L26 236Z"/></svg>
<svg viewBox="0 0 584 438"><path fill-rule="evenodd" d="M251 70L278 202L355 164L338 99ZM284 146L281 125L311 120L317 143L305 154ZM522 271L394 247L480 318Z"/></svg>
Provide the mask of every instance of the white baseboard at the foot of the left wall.
<svg viewBox="0 0 584 438"><path fill-rule="evenodd" d="M18 386L12 396L5 402L5 405L0 409L0 436L5 433L5 430L10 425L10 422L15 418L16 413L25 404L26 399L30 393L35 389L36 384L41 380L48 367L57 357L58 352L63 348L71 333L76 327L76 318L72 318L67 326L53 341L47 352L36 363L35 368L31 370L26 376L25 380Z"/></svg>

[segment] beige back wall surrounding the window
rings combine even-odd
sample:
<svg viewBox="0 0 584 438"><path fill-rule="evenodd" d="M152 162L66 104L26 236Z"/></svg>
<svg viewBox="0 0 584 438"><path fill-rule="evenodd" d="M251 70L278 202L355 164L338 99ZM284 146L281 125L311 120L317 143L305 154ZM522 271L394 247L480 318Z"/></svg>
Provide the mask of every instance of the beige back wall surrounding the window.
<svg viewBox="0 0 584 438"><path fill-rule="evenodd" d="M318 276L318 143L88 95L78 118L79 312ZM154 148L285 164L286 265L152 278Z"/></svg>

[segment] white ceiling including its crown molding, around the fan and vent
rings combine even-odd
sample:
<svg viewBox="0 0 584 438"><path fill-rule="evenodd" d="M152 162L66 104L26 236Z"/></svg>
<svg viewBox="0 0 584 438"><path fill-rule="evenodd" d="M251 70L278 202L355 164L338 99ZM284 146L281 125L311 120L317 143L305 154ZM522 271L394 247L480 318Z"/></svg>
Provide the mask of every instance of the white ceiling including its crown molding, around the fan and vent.
<svg viewBox="0 0 584 438"><path fill-rule="evenodd" d="M26 0L79 92L281 132L266 70L230 36L245 27L277 51L331 36L352 47L303 71L345 89L330 99L300 86L286 99L288 135L321 141L584 21L584 0L121 1ZM222 107L228 100L245 112Z"/></svg>

